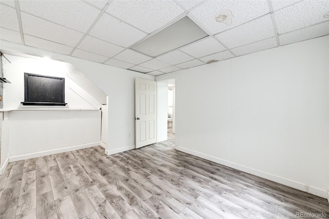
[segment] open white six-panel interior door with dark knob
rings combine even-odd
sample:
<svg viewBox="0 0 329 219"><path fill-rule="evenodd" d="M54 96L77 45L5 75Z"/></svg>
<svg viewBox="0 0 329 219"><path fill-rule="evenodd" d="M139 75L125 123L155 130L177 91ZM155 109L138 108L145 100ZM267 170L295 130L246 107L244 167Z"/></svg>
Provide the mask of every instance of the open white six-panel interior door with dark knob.
<svg viewBox="0 0 329 219"><path fill-rule="evenodd" d="M156 142L156 82L135 79L136 148Z"/></svg>

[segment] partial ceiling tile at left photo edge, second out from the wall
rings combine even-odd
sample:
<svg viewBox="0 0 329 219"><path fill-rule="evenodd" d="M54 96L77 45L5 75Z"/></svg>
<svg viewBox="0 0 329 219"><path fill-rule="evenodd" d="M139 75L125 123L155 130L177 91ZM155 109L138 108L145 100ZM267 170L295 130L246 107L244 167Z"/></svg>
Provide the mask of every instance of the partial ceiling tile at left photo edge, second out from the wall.
<svg viewBox="0 0 329 219"><path fill-rule="evenodd" d="M0 27L20 31L16 9L0 4Z"/></svg>

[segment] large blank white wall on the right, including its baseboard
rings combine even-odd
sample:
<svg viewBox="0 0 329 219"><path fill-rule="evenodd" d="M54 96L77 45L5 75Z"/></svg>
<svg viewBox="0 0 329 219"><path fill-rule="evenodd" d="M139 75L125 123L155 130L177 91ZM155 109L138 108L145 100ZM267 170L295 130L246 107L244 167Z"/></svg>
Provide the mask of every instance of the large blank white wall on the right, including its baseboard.
<svg viewBox="0 0 329 219"><path fill-rule="evenodd" d="M179 71L177 149L327 197L328 42Z"/></svg>

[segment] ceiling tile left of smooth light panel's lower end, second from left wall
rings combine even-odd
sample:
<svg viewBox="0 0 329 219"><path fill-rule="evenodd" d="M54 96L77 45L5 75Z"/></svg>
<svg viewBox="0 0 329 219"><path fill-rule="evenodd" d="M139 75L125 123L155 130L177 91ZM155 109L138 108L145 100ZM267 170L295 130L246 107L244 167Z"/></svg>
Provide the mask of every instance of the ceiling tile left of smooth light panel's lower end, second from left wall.
<svg viewBox="0 0 329 219"><path fill-rule="evenodd" d="M93 36L86 36L78 48L101 54L102 56L106 57L113 57L124 49L123 47L114 45L112 43L96 39Z"/></svg>

